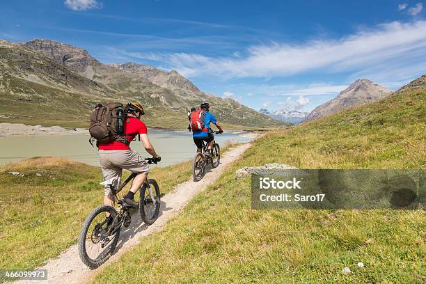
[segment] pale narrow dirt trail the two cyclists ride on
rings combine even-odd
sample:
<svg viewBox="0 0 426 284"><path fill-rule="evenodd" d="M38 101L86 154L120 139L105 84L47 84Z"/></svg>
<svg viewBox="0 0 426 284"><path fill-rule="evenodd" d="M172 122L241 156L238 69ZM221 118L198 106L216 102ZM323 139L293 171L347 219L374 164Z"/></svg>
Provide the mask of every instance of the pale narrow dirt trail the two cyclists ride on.
<svg viewBox="0 0 426 284"><path fill-rule="evenodd" d="M139 213L134 214L132 216L132 224L129 228L125 228L125 230L122 230L120 233L116 254L113 255L107 263L118 260L125 251L138 244L141 237L161 230L168 219L178 215L189 200L194 198L196 194L205 190L208 185L215 182L223 171L225 171L227 166L238 159L250 146L250 143L246 143L228 150L221 158L221 164L217 168L211 168L210 171L207 169L207 173L203 180L200 180L200 182L193 182L191 179L178 185L173 191L161 198L160 216L151 226L145 226L143 221L141 221ZM79 258L77 244L75 244L67 251L61 253L58 258L49 260L45 266L39 267L39 269L47 269L47 280L16 281L15 283L86 283L99 273L103 267L104 265L94 270L86 267Z"/></svg>

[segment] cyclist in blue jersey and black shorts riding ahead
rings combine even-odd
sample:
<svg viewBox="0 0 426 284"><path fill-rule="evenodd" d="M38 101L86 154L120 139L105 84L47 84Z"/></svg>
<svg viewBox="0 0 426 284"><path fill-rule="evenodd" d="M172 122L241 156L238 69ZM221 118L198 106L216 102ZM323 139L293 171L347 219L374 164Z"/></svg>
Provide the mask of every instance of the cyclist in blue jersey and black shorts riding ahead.
<svg viewBox="0 0 426 284"><path fill-rule="evenodd" d="M192 132L192 138L194 139L194 143L197 146L197 152L201 152L201 148L203 148L203 141L207 143L207 153L206 155L210 155L212 152L212 145L214 141L214 136L212 133L212 129L210 128L210 123L214 123L216 127L219 129L219 133L223 133L223 129L220 123L216 120L212 113L209 112L210 104L208 102L203 102L200 105L200 109L205 111L205 120L203 130L197 130Z"/></svg>

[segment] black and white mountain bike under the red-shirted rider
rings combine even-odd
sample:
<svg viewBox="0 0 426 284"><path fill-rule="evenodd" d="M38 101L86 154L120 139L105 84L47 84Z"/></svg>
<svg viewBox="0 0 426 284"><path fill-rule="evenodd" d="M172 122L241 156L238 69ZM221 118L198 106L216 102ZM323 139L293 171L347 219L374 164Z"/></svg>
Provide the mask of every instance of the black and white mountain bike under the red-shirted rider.
<svg viewBox="0 0 426 284"><path fill-rule="evenodd" d="M157 164L157 159L145 159L148 164ZM120 184L121 177L114 177L100 184L110 187L115 200L117 194L137 173L129 175L123 183ZM157 182L148 179L140 189L139 212L141 219L147 225L151 225L157 220L160 209L160 191ZM131 209L133 207L123 203L123 200L117 200L118 210L109 205L101 205L86 217L81 226L78 246L81 261L91 268L100 267L113 255L116 248L121 228L128 228L131 220Z"/></svg>

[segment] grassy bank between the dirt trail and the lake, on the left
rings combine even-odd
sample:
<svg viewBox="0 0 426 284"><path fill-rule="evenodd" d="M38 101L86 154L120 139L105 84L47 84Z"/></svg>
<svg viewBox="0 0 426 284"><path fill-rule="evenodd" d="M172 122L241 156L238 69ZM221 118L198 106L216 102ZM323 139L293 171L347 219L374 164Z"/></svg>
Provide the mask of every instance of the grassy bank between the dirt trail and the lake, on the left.
<svg viewBox="0 0 426 284"><path fill-rule="evenodd" d="M157 167L150 177L159 182L161 194L166 194L189 179L190 166L187 161ZM31 269L77 243L81 223L103 202L99 182L100 168L58 157L26 159L1 167L0 267Z"/></svg>

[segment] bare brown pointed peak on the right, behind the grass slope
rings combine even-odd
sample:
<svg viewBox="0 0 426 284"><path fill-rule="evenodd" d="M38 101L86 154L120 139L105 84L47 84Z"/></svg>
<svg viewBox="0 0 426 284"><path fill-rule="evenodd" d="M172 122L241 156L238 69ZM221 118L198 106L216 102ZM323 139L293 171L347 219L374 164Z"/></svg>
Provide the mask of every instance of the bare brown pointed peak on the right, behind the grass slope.
<svg viewBox="0 0 426 284"><path fill-rule="evenodd" d="M368 102L381 100L392 94L393 91L380 86L368 79L354 81L348 88L342 90L340 94L324 104L320 104L313 109L303 122L315 120L322 116L329 116L349 107L356 107Z"/></svg>

